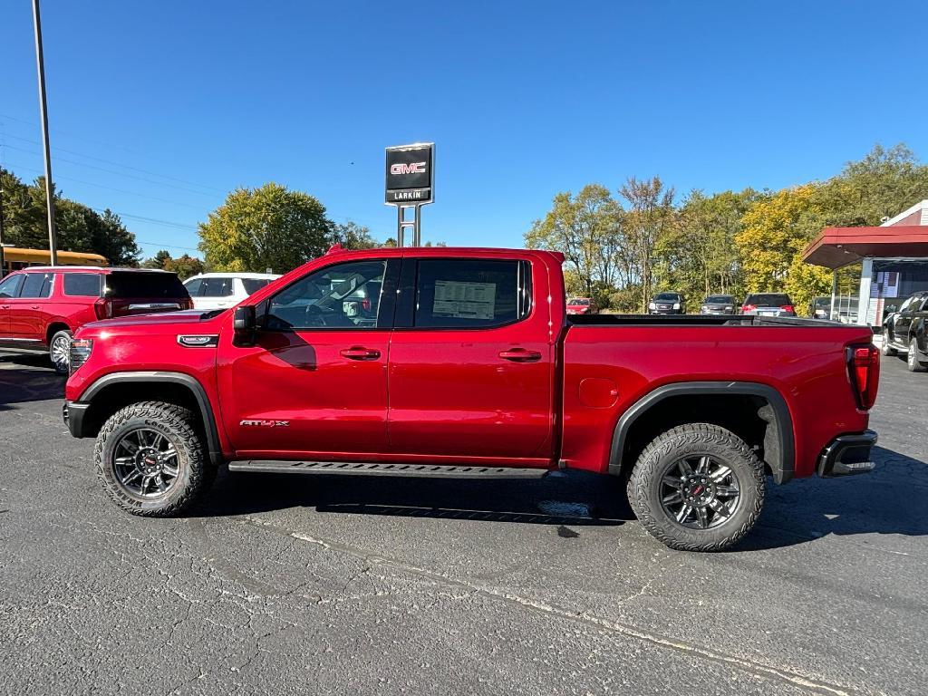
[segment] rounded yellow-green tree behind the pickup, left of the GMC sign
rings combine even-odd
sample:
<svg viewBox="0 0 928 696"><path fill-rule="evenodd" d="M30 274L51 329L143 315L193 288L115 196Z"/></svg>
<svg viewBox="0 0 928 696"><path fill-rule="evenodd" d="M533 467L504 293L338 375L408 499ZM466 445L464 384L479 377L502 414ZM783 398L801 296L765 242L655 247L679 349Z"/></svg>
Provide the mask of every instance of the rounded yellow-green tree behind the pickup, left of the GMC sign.
<svg viewBox="0 0 928 696"><path fill-rule="evenodd" d="M285 273L329 248L325 206L279 184L238 188L200 223L200 251L220 271Z"/></svg>

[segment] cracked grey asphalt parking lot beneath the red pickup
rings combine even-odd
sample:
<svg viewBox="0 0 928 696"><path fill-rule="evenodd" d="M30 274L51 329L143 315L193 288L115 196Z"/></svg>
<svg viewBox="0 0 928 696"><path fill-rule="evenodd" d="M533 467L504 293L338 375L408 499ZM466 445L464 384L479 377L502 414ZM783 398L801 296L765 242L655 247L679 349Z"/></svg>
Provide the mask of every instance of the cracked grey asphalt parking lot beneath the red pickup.
<svg viewBox="0 0 928 696"><path fill-rule="evenodd" d="M110 504L63 380L0 354L0 692L928 692L928 374L884 358L878 468L671 551L609 480L221 473Z"/></svg>

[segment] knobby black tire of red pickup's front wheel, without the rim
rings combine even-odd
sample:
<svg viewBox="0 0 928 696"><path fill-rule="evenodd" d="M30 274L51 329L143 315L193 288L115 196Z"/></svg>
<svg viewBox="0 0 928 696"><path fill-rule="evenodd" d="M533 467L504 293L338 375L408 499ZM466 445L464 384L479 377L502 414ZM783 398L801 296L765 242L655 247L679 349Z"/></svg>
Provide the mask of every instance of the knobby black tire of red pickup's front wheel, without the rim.
<svg viewBox="0 0 928 696"><path fill-rule="evenodd" d="M171 517L189 509L213 483L216 467L210 462L193 412L183 406L143 401L118 410L97 434L94 460L97 477L107 495L120 508L144 517ZM177 451L177 481L161 496L131 494L115 477L113 448L122 435L137 428L160 432Z"/></svg>

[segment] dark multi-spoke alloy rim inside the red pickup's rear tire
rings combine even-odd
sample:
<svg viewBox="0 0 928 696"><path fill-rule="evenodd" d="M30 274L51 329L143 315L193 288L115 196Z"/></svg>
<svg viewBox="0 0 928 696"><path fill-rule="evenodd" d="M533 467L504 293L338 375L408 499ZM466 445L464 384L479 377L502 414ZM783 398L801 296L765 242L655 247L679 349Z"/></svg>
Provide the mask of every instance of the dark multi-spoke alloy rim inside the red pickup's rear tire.
<svg viewBox="0 0 928 696"><path fill-rule="evenodd" d="M741 502L734 471L709 455L672 462L661 477L664 514L689 529L711 529L728 522Z"/></svg>

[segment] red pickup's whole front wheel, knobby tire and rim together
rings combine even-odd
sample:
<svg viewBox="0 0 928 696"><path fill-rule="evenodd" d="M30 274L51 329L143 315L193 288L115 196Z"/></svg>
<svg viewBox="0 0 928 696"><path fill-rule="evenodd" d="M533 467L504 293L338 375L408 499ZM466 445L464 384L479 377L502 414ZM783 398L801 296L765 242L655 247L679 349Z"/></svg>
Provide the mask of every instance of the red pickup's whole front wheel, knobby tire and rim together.
<svg viewBox="0 0 928 696"><path fill-rule="evenodd" d="M209 488L215 467L183 406L146 401L110 416L97 435L97 476L122 509L167 517Z"/></svg>

